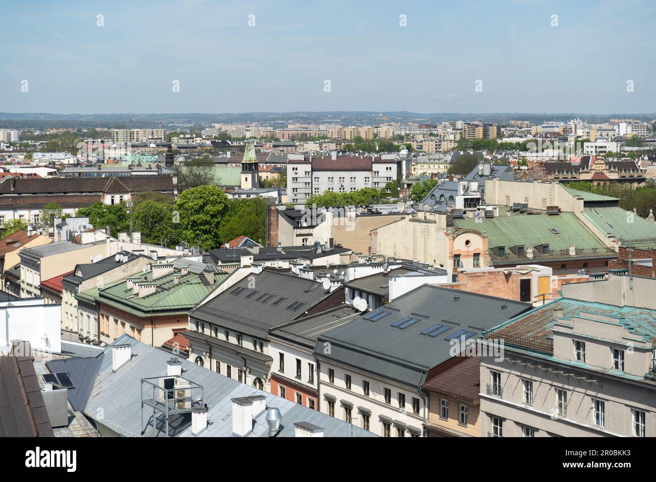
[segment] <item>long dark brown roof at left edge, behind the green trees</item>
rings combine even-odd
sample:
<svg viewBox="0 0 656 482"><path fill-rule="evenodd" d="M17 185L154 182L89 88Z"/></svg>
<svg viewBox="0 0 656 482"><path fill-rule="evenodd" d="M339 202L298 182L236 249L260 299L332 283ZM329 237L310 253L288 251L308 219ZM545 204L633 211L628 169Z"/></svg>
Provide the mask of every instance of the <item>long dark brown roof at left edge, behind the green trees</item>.
<svg viewBox="0 0 656 482"><path fill-rule="evenodd" d="M15 182L15 184L14 184ZM14 189L12 189L14 184ZM112 193L142 191L173 191L173 176L125 176L110 178L4 178L1 194L33 193Z"/></svg>

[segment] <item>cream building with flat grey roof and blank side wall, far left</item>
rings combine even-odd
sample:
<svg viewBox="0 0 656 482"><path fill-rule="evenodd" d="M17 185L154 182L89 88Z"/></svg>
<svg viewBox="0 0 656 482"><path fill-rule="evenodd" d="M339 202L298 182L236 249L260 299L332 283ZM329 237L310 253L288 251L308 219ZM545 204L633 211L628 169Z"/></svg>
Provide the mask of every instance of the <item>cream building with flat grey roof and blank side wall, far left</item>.
<svg viewBox="0 0 656 482"><path fill-rule="evenodd" d="M108 254L104 241L76 245L60 241L23 249L20 256L20 297L41 296L41 280L51 279L72 270L76 264L102 259Z"/></svg>

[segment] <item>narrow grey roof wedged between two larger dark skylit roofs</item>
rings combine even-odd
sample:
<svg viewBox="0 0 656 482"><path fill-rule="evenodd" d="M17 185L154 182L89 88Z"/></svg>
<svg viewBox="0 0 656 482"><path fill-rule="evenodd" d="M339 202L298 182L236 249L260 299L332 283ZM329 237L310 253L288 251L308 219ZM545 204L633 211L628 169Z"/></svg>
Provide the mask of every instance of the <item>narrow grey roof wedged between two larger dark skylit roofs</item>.
<svg viewBox="0 0 656 482"><path fill-rule="evenodd" d="M270 336L300 344L314 350L319 335L348 323L358 316L351 306L342 305L316 315L295 319L290 323L278 325L269 331Z"/></svg>

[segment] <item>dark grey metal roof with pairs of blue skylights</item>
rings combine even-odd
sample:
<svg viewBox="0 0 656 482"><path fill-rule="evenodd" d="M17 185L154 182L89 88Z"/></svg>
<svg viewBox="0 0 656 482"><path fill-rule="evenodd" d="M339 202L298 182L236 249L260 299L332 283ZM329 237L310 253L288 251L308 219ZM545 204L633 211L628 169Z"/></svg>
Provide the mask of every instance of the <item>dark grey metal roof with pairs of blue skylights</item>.
<svg viewBox="0 0 656 482"><path fill-rule="evenodd" d="M419 388L428 370L449 359L447 336L464 330L475 337L529 309L528 303L423 285L379 308L388 314L378 321L360 316L319 336L315 355ZM405 329L390 326L405 317L419 321ZM448 329L434 337L421 334L436 324Z"/></svg>

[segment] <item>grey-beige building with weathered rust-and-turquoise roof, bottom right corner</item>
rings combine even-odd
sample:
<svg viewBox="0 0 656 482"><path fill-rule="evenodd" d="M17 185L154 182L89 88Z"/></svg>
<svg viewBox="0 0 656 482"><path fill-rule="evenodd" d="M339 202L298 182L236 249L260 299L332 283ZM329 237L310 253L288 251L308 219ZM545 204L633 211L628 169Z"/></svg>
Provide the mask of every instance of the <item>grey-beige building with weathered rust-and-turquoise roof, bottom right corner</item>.
<svg viewBox="0 0 656 482"><path fill-rule="evenodd" d="M481 435L656 436L656 304L651 278L610 275L482 336Z"/></svg>

